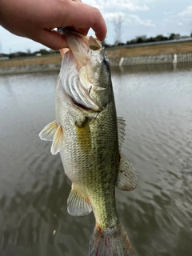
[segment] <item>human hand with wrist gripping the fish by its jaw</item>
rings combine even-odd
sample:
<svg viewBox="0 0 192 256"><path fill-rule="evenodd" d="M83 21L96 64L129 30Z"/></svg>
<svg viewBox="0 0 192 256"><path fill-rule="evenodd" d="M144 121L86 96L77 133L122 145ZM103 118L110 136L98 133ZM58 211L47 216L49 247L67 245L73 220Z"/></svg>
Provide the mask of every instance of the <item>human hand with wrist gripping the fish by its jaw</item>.
<svg viewBox="0 0 192 256"><path fill-rule="evenodd" d="M0 0L0 25L53 50L67 47L64 36L54 30L61 26L73 26L84 35L92 28L98 40L106 37L100 11L80 0Z"/></svg>

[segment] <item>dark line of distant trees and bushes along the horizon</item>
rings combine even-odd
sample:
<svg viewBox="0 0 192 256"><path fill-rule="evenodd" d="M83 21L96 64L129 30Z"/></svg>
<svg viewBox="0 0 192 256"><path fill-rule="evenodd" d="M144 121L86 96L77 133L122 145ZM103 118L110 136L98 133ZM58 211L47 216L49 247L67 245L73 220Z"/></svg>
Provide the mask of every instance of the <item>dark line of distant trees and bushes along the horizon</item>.
<svg viewBox="0 0 192 256"><path fill-rule="evenodd" d="M174 40L174 39L181 39L181 38L191 38L192 37L192 32L189 36L181 37L180 34L174 34L171 33L169 37L165 37L162 34L158 34L154 38L146 38L145 35L139 36L133 40L127 41L126 43L123 42L115 42L114 45L107 44L106 42L103 42L103 46L107 47L114 47L114 46L126 46L130 44L140 44L140 43L147 43L147 42L161 42L161 41L166 41L166 40ZM50 55L50 54L58 54L59 51L55 50L38 50L33 53L30 52L30 50L26 50L26 52L16 52L16 53L11 53L11 54L0 54L0 60L1 58L22 58L22 57L32 57L32 56L42 56L42 55Z"/></svg>

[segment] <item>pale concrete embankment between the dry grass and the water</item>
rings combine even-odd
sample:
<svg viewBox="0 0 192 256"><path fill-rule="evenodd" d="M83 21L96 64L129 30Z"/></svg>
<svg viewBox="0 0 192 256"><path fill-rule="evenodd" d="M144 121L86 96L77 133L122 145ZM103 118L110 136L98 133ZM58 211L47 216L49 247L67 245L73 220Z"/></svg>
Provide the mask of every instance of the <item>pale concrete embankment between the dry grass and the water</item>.
<svg viewBox="0 0 192 256"><path fill-rule="evenodd" d="M146 55L136 57L115 57L110 58L110 66L137 66L151 64L181 63L192 62L192 54L161 54ZM34 72L59 71L61 63L42 64L42 65L26 65L26 66L10 66L0 68L0 74L22 74Z"/></svg>

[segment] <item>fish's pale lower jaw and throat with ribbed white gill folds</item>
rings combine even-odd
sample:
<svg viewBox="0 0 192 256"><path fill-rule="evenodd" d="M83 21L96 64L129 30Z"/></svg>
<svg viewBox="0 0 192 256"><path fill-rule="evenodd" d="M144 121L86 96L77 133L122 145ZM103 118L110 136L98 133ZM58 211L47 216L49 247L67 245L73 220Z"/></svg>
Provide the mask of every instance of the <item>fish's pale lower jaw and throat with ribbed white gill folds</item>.
<svg viewBox="0 0 192 256"><path fill-rule="evenodd" d="M85 37L82 34L69 28L58 29L59 33L65 35L70 50L64 57L64 62L60 72L63 88L72 99L75 106L82 110L101 110L98 104L91 97L94 84L87 74L87 62L90 60L90 51L102 50L102 46L92 37ZM68 64L68 68L64 68ZM97 90L104 90L98 88Z"/></svg>

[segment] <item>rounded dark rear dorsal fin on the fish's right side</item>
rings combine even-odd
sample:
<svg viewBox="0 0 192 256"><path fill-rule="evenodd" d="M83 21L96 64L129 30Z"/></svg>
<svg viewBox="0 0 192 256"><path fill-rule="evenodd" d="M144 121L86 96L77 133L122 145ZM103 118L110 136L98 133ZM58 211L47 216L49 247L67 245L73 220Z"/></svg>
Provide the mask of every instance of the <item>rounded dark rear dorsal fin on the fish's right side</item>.
<svg viewBox="0 0 192 256"><path fill-rule="evenodd" d="M123 154L120 156L116 186L119 190L134 190L138 185L138 174L130 161Z"/></svg>

